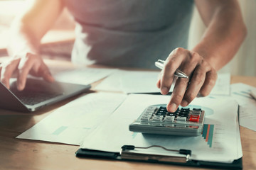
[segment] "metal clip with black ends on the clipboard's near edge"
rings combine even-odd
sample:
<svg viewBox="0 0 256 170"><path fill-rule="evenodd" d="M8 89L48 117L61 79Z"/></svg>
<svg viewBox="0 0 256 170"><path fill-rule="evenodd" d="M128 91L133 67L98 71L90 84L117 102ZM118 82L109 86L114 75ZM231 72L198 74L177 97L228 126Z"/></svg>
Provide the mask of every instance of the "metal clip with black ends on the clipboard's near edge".
<svg viewBox="0 0 256 170"><path fill-rule="evenodd" d="M151 147L159 147L164 149L167 152L172 152L174 155L170 156L170 154L144 154L136 152L136 149L149 149ZM159 145L152 145L150 147L135 147L133 145L124 145L120 151L120 156L122 159L133 159L133 160L142 160L148 162L179 162L186 163L189 161L191 157L191 150L188 149L166 149L165 147L161 147Z"/></svg>

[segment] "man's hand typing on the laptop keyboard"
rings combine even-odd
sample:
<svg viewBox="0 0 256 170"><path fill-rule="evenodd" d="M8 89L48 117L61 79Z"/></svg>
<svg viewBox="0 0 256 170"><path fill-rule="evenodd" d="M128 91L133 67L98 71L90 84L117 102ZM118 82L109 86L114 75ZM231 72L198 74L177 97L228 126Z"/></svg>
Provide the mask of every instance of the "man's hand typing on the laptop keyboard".
<svg viewBox="0 0 256 170"><path fill-rule="evenodd" d="M23 90L29 73L36 77L43 77L49 82L54 81L46 64L36 54L16 55L0 65L0 80L8 89L10 88L10 78L17 74L17 89Z"/></svg>

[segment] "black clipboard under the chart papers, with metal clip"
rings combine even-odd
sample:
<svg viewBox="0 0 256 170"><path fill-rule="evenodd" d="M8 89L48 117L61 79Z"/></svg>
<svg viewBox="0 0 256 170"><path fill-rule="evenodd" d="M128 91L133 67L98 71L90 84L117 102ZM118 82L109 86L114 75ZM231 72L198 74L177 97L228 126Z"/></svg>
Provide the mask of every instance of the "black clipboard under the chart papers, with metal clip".
<svg viewBox="0 0 256 170"><path fill-rule="evenodd" d="M94 149L78 149L75 153L76 157L83 158L96 158L96 159L112 159L119 161L132 161L132 162L149 162L158 164L174 164L181 166L196 166L196 167L206 167L215 169L242 169L242 157L240 159L234 160L232 163L222 163L222 162L204 162L191 160L191 150L188 149L166 149L161 147L166 151L178 154L178 156L167 156L161 154L144 154L139 152L134 152L134 149L149 149L151 147L161 147L158 145L153 145L150 147L135 147L133 145L124 145L120 149L120 152L105 152Z"/></svg>

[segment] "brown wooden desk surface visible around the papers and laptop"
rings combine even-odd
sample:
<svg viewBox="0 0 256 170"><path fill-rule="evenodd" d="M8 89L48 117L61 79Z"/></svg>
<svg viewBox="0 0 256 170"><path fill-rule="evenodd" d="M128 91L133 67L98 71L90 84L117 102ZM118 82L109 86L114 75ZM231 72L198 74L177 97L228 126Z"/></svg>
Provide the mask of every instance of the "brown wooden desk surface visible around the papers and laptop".
<svg viewBox="0 0 256 170"><path fill-rule="evenodd" d="M256 86L256 77L232 77L231 83L238 82ZM164 164L79 159L75 157L78 146L15 139L55 108L73 99L35 113L0 110L0 169L198 169ZM256 132L243 127L240 127L240 130L244 169L256 169Z"/></svg>

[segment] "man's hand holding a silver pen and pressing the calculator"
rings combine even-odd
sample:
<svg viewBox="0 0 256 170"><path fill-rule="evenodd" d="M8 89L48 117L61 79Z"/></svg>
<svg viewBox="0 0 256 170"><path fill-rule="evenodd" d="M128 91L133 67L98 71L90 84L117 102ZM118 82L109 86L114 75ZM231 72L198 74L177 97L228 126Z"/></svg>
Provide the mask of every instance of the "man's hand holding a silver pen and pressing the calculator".
<svg viewBox="0 0 256 170"><path fill-rule="evenodd" d="M167 105L169 112L174 112L181 106L188 106L198 94L207 96L215 85L217 73L211 65L197 52L183 48L176 48L167 57L164 69L161 72L156 86L161 89L161 94L168 94L174 81L174 72L180 69L190 79L178 78Z"/></svg>

